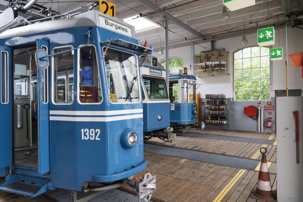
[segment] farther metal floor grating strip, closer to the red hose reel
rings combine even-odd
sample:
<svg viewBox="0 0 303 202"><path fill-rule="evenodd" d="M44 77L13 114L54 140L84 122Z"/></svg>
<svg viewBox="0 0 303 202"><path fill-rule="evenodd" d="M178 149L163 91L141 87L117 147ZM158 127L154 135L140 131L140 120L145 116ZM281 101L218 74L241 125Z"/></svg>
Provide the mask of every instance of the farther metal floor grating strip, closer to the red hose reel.
<svg viewBox="0 0 303 202"><path fill-rule="evenodd" d="M211 135L211 134L199 134L199 133L182 133L180 131L177 131L176 133L178 136L203 137L203 138L216 139L216 140L228 140L235 142L255 143L255 144L273 145L275 142L274 140L255 139L255 138L247 138L247 137L232 137L225 135Z"/></svg>

